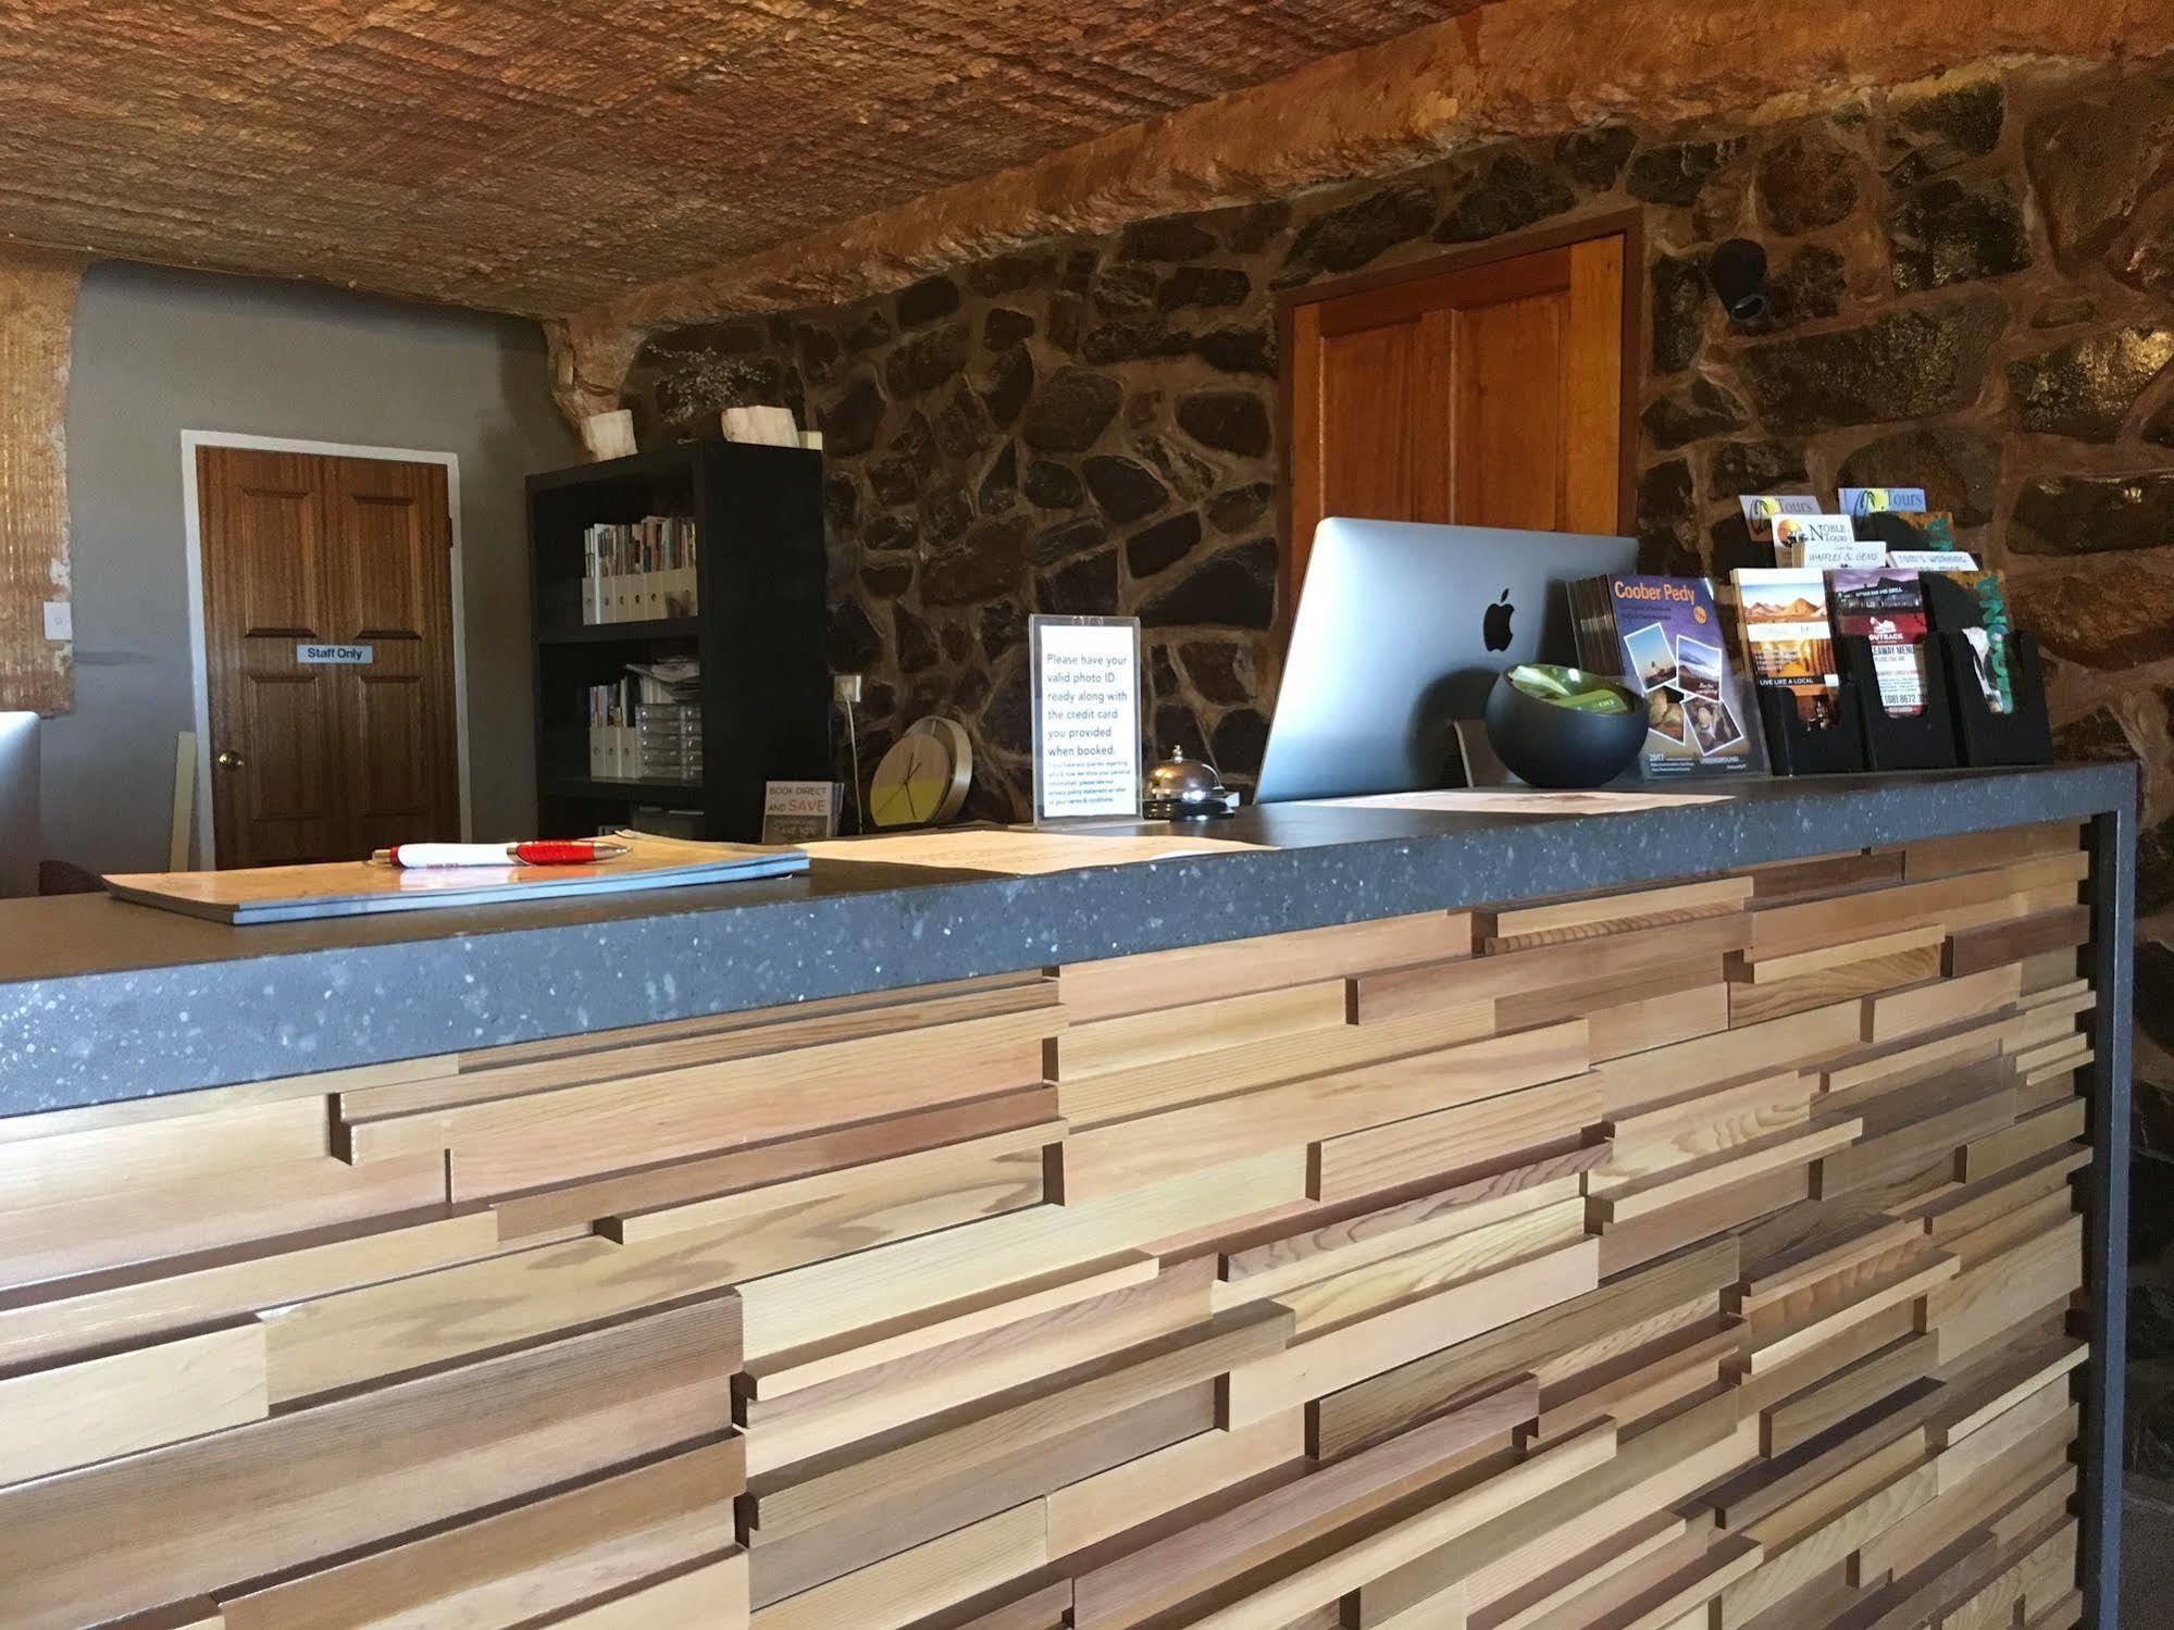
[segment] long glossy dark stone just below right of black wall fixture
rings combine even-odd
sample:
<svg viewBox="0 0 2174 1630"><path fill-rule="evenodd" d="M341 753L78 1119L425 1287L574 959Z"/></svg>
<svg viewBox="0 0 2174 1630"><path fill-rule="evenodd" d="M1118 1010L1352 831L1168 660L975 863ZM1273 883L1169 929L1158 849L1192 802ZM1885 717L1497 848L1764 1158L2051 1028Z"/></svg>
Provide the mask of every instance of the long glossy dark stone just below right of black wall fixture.
<svg viewBox="0 0 2174 1630"><path fill-rule="evenodd" d="M1922 419L1976 400L2004 324L2007 306L1991 296L1909 306L1854 328L1746 346L1737 376L1778 435Z"/></svg>

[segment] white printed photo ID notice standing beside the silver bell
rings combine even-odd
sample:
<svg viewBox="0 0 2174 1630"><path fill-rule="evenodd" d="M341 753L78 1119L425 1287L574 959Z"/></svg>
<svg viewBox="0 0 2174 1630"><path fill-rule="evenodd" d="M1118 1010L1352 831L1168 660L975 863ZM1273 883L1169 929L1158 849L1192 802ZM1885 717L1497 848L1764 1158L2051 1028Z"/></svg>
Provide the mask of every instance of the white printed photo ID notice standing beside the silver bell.
<svg viewBox="0 0 2174 1630"><path fill-rule="evenodd" d="M1035 819L1139 815L1139 619L1030 617Z"/></svg>

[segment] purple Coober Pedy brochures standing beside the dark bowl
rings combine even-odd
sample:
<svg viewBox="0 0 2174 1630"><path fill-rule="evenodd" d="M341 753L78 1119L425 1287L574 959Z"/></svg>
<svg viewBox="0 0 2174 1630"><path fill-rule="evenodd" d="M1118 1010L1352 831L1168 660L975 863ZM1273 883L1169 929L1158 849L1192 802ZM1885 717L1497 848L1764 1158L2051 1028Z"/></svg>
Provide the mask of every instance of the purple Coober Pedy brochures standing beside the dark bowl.
<svg viewBox="0 0 2174 1630"><path fill-rule="evenodd" d="M1572 589L1578 663L1646 698L1646 776L1765 772L1707 578L1609 576Z"/></svg>

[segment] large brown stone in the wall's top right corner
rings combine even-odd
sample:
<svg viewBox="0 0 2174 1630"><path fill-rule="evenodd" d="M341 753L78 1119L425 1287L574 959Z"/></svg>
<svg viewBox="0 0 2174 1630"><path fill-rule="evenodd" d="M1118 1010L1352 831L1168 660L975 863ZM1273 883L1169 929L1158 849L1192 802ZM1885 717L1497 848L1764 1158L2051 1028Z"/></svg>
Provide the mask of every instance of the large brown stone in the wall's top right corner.
<svg viewBox="0 0 2174 1630"><path fill-rule="evenodd" d="M2128 76L2024 128L2024 163L2054 256L2096 261L2174 165L2174 78Z"/></svg>

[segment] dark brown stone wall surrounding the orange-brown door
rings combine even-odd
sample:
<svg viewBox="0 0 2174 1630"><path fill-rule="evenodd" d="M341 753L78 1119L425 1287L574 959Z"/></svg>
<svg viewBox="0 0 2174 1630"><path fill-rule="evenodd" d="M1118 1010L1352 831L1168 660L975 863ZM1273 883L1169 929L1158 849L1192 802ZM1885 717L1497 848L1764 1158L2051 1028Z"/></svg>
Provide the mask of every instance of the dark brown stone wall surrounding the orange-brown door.
<svg viewBox="0 0 2174 1630"><path fill-rule="evenodd" d="M2174 1080L2174 70L2009 63L1691 128L1611 124L644 350L644 439L789 402L830 454L833 663L863 756L928 711L1026 802L1028 611L1137 613L1154 745L1259 763L1276 661L1276 293L1639 209L1635 530L1754 561L1739 491L1915 482L2011 572L2065 756L2141 756L2139 1069ZM1702 283L1767 246L1774 315ZM2174 1148L2174 1124L2154 1128Z"/></svg>

